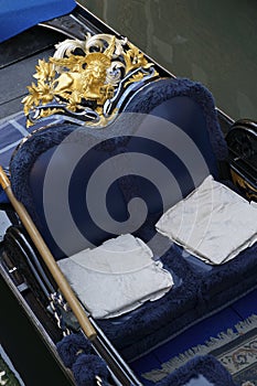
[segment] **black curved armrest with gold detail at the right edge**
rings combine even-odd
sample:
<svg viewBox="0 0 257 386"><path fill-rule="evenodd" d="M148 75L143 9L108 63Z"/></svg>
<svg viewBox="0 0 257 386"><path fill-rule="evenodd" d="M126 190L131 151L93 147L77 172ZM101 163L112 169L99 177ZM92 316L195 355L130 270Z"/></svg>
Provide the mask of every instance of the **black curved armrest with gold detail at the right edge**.
<svg viewBox="0 0 257 386"><path fill-rule="evenodd" d="M226 135L233 182L257 202L257 121L237 120Z"/></svg>

